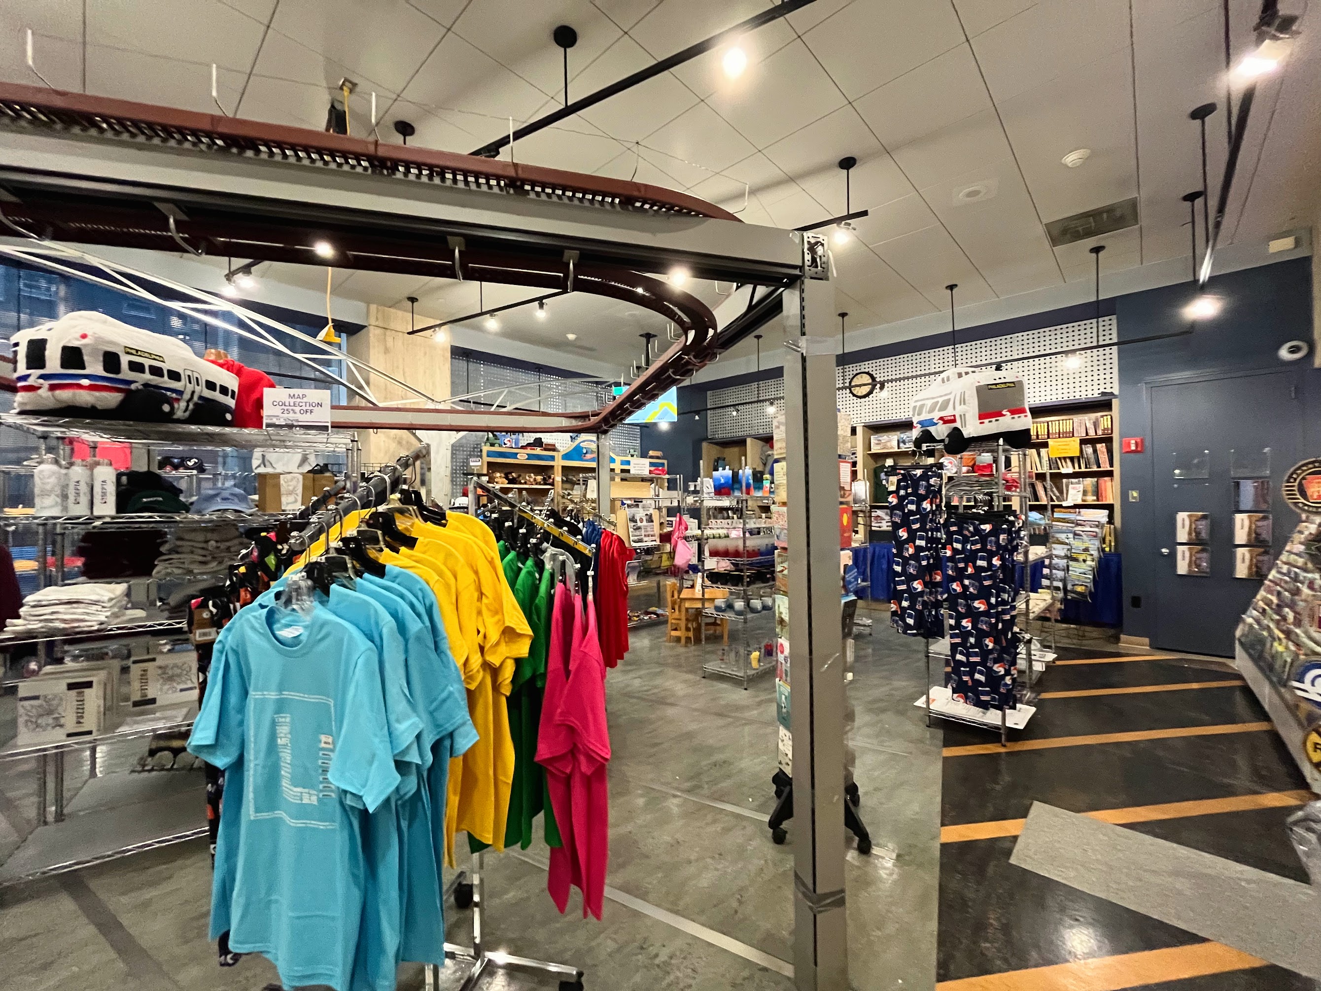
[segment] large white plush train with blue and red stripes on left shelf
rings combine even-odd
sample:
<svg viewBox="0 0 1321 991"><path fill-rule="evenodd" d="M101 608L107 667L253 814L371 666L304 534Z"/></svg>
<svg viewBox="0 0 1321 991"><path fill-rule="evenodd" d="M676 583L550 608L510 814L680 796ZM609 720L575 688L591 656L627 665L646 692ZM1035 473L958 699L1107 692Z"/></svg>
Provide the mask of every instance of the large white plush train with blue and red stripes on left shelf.
<svg viewBox="0 0 1321 991"><path fill-rule="evenodd" d="M173 337L79 311L12 342L18 412L234 424L238 377Z"/></svg>

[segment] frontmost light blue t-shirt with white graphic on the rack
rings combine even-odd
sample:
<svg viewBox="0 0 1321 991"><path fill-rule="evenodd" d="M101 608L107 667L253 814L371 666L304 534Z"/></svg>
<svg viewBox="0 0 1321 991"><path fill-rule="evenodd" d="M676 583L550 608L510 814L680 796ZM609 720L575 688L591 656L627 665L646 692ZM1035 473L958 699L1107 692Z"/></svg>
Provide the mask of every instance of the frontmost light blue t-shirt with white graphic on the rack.
<svg viewBox="0 0 1321 991"><path fill-rule="evenodd" d="M370 813L399 786L376 651L321 605L244 609L222 636L189 739L244 765L238 828L219 836L232 891L213 885L213 905L229 896L230 949L264 954L285 986L347 991L367 871L347 797Z"/></svg>

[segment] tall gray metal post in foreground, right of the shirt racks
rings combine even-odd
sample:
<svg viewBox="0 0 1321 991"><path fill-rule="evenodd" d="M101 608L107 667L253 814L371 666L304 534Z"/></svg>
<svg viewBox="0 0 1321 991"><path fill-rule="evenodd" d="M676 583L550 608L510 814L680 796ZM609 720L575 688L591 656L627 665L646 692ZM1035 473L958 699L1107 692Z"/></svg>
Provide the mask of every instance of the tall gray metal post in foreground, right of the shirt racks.
<svg viewBox="0 0 1321 991"><path fill-rule="evenodd" d="M824 238L802 237L804 277L785 292L794 980L799 991L847 991L835 287Z"/></svg>

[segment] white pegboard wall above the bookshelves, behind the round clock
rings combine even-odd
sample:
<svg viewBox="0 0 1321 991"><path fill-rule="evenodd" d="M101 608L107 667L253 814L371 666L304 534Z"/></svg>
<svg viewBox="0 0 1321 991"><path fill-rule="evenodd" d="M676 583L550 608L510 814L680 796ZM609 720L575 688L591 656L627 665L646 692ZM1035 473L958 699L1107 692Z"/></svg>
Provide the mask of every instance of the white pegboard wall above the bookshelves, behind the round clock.
<svg viewBox="0 0 1321 991"><path fill-rule="evenodd" d="M991 337L984 341L959 344L958 362L960 365L983 365L1004 362L1022 375L1028 386L1028 406L1034 403L1067 402L1087 399L1106 392L1119 391L1119 362L1115 348L1094 348L1071 355L1078 367L1069 367L1065 355L1054 351L1069 351L1073 348L1092 348L1096 344L1114 344L1119 326L1115 317L1102 317L1098 326L1094 320L1081 320L1074 324L1024 330L1004 337ZM1050 354L1046 358L1026 358L1029 354ZM839 392L839 408L847 412L853 423L886 423L906 419L911 412L913 396L926 388L942 371L955 363L952 346L931 348L925 351L896 354L889 358L875 358L855 365L844 365L836 370L835 385L844 386L859 371L871 371L878 382L889 383L884 392L876 391L865 399L857 399L847 390ZM922 378L908 378L909 375ZM758 387L761 399L758 402ZM708 433L712 440L746 437L771 432L771 416L766 412L768 399L779 402L785 394L783 379L761 382L748 386L713 388L707 394ZM719 407L737 407L736 411Z"/></svg>

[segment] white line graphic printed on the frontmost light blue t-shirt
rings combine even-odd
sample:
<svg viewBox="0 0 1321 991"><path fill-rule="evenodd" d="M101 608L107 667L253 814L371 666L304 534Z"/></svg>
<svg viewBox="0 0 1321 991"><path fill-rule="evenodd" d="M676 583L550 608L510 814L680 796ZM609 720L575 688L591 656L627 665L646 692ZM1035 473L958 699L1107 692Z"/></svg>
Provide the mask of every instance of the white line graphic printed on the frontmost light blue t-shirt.
<svg viewBox="0 0 1321 991"><path fill-rule="evenodd" d="M299 692L248 695L247 753L259 769L277 770L279 793L258 794L247 776L250 819L284 819L289 826L333 830L339 793L330 784L334 758L334 700ZM272 777L276 777L272 773ZM275 802L275 807L269 807Z"/></svg>

